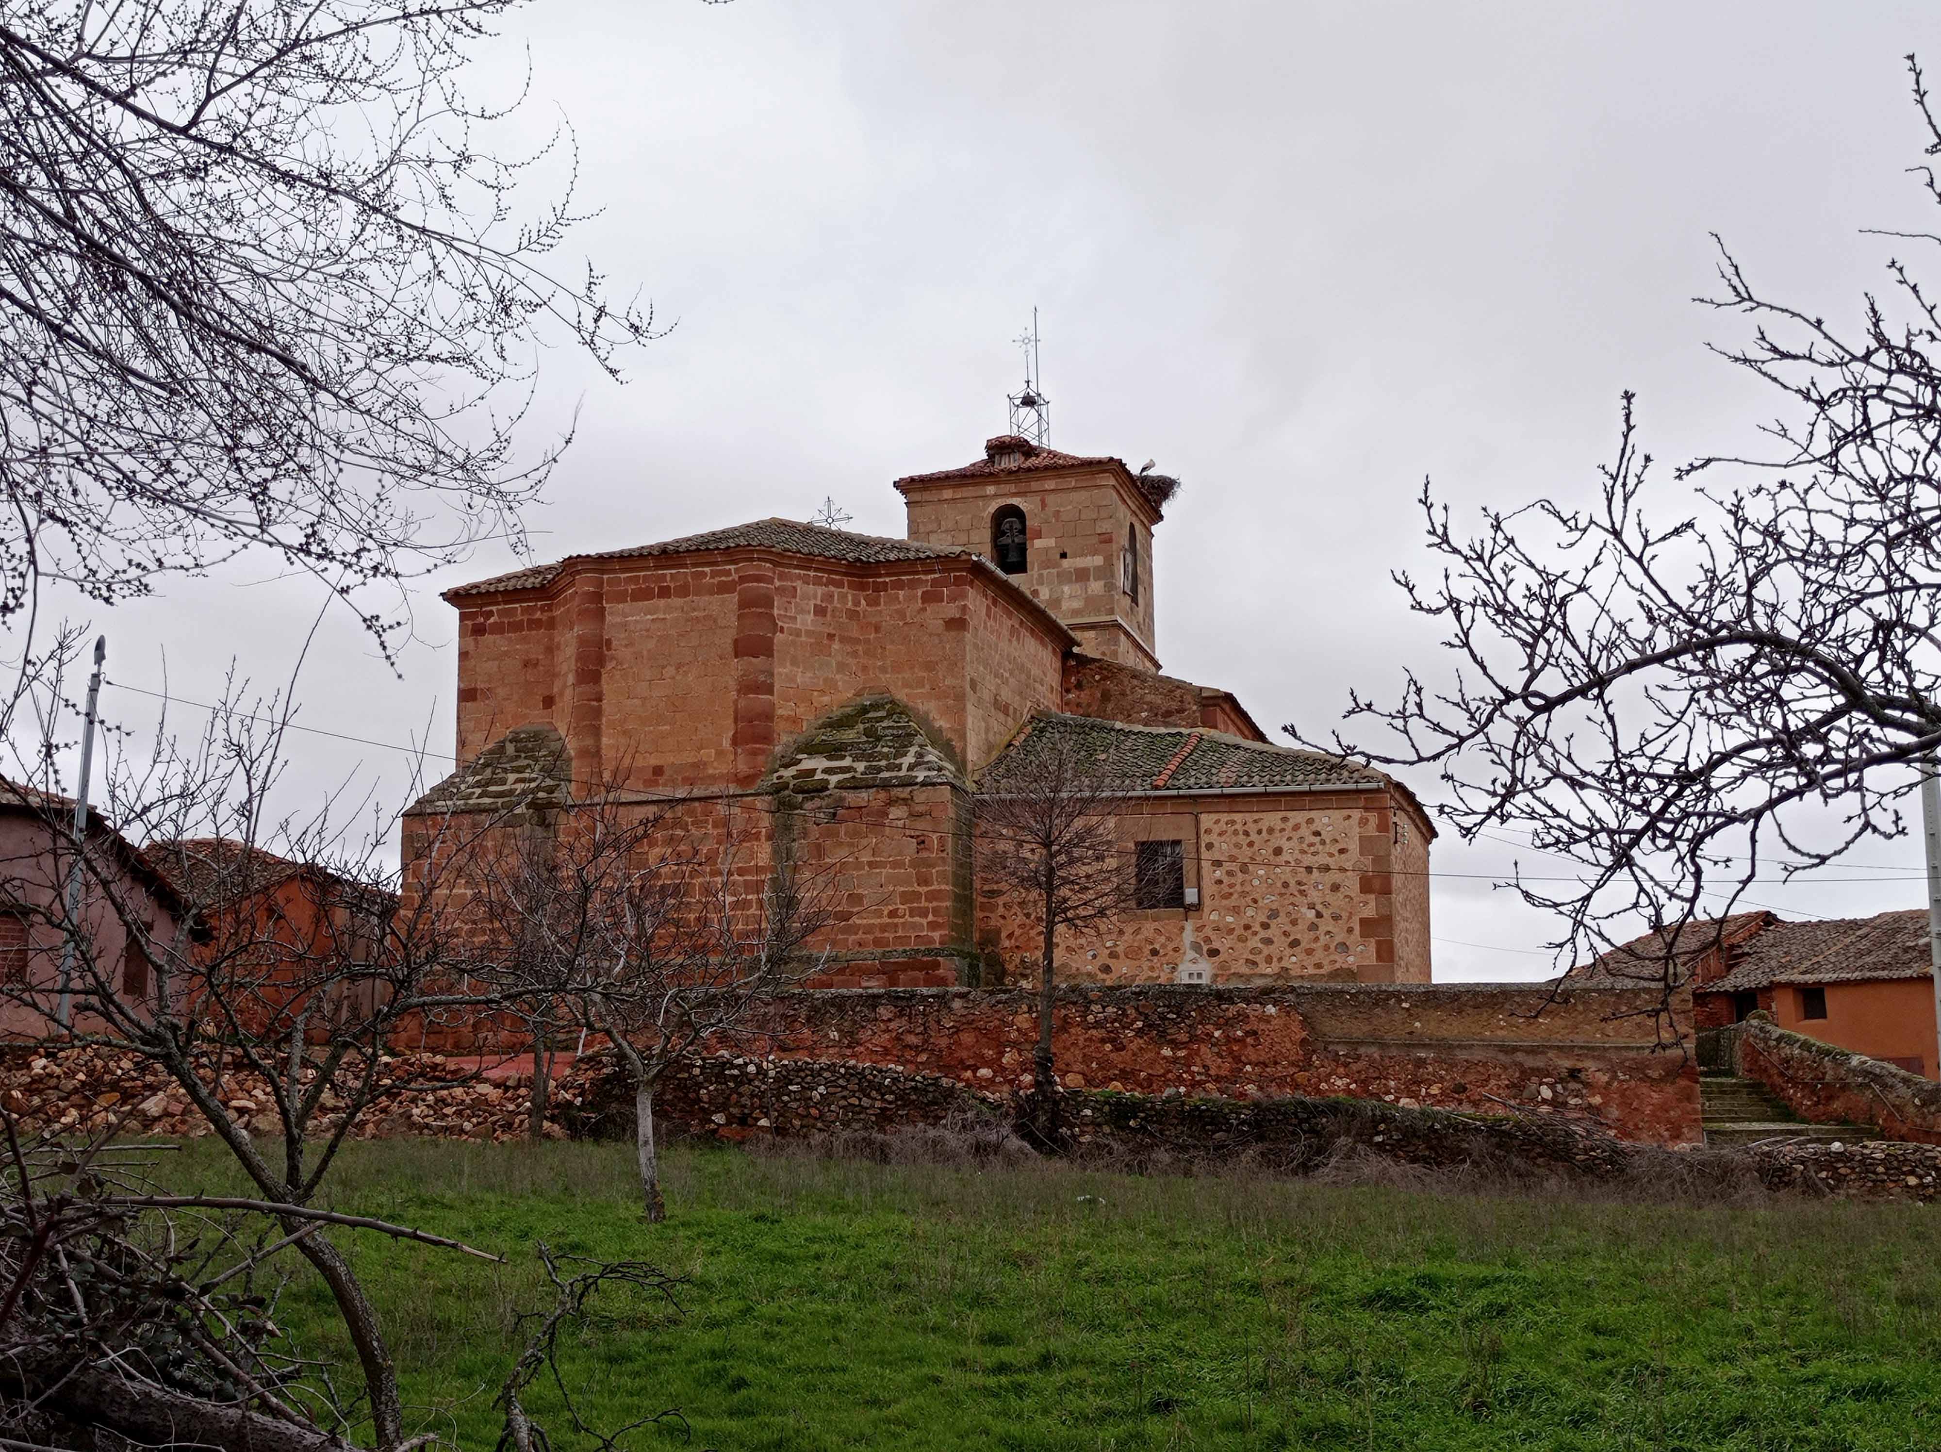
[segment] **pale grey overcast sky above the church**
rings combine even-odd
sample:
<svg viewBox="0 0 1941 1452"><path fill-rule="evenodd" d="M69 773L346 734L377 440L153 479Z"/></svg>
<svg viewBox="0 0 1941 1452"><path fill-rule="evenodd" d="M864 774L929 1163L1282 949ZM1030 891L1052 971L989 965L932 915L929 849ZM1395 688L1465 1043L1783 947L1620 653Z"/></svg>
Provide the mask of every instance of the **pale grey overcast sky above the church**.
<svg viewBox="0 0 1941 1452"><path fill-rule="evenodd" d="M1708 233L1770 291L1856 314L1889 256L1859 229L1927 221L1900 56L1941 68L1941 12L547 0L479 80L516 83L528 47L509 144L571 118L578 198L602 210L576 252L677 322L625 386L542 361L534 423L576 410L578 437L532 516L540 555L806 518L825 495L850 528L903 534L891 479L1003 429L1036 305L1052 443L1186 483L1155 544L1165 670L1320 730L1349 687L1434 668L1388 580L1429 563L1425 476L1473 518L1588 491L1623 388L1667 462L1770 412L1706 353L1741 336L1691 301ZM402 677L326 615L299 720L448 749L437 588L510 563L487 545L427 582ZM97 613L111 677L159 689L165 656L186 701L231 658L281 681L320 596L274 575ZM105 701L126 722L153 709ZM404 790L402 753L328 736L299 738L281 790L345 775ZM1551 971L1551 924L1491 885L1514 856L1436 846L1438 980ZM1918 856L1869 846L1823 877L1879 881L1753 895L1801 916L1918 907Z"/></svg>

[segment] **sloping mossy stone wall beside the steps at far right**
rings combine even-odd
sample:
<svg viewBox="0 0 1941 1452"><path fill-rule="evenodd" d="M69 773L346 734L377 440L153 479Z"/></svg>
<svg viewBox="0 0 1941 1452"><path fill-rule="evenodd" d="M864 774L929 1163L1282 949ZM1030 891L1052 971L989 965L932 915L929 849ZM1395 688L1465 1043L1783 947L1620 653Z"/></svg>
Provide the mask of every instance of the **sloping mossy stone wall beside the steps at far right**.
<svg viewBox="0 0 1941 1452"><path fill-rule="evenodd" d="M1873 1124L1889 1139L1941 1145L1941 1083L1766 1019L1747 1019L1739 1033L1741 1072L1799 1118Z"/></svg>

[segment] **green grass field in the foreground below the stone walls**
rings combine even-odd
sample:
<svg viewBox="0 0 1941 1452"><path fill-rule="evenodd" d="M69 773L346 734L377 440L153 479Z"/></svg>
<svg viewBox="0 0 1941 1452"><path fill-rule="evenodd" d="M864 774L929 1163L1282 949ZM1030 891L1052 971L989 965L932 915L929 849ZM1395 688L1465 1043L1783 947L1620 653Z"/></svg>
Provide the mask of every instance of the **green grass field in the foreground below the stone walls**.
<svg viewBox="0 0 1941 1452"><path fill-rule="evenodd" d="M190 1149L208 1184L219 1151ZM608 1145L355 1147L340 1231L425 1429L491 1446L534 1246L644 1258L567 1374L633 1446L1941 1448L1941 1213L1638 1207L1267 1178L679 1149L641 1223ZM283 1322L345 1355L318 1287ZM543 1411L555 1405L536 1398ZM571 1444L571 1442L569 1442Z"/></svg>

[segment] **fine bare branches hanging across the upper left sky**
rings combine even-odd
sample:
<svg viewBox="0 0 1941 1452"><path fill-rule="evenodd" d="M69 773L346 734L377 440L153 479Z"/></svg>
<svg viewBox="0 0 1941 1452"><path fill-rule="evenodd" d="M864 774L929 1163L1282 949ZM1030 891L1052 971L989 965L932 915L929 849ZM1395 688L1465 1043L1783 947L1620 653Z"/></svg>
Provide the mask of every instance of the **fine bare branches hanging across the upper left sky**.
<svg viewBox="0 0 1941 1452"><path fill-rule="evenodd" d="M611 371L650 314L545 270L571 188L520 208L518 95L468 70L514 4L6 8L0 619L43 578L111 604L266 547L347 592L520 538L542 336Z"/></svg>

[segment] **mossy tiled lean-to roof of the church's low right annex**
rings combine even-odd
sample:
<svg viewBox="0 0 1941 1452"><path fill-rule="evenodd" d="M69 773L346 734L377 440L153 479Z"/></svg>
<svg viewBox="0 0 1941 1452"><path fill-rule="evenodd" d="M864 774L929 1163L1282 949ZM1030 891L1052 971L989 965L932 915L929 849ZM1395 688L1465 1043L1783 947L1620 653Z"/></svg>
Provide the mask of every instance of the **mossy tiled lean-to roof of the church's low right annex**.
<svg viewBox="0 0 1941 1452"><path fill-rule="evenodd" d="M1390 788L1372 767L1320 751L1248 742L1194 726L1128 726L1095 716L1033 716L984 769L978 790L1002 792L1042 753L1071 743L1106 786L1128 796L1149 792L1266 792L1324 786Z"/></svg>

